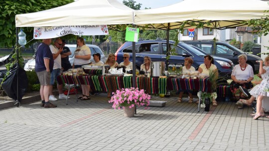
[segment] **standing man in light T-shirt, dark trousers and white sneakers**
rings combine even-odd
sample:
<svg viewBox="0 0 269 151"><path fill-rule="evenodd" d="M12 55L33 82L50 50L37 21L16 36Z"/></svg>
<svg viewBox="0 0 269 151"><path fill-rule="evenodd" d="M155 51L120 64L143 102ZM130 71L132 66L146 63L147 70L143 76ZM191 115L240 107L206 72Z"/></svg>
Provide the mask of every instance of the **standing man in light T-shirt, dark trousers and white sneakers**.
<svg viewBox="0 0 269 151"><path fill-rule="evenodd" d="M51 72L51 79L50 79L50 88L49 88L49 100L50 101L57 101L57 98L52 93L54 82L57 76L61 75L61 52L63 51L62 40L60 38L55 39L54 44L50 45L50 51L53 55L54 65L53 70ZM57 89L59 91L59 99L66 99L67 96L63 93L63 84L59 84L57 82ZM70 97L68 97L70 98Z"/></svg>

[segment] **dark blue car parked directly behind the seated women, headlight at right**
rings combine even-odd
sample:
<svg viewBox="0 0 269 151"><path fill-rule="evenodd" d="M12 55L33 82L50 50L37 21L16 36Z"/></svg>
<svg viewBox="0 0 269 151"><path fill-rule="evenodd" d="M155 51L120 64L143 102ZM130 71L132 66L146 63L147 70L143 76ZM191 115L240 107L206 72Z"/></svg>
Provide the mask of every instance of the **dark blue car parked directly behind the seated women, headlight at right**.
<svg viewBox="0 0 269 151"><path fill-rule="evenodd" d="M169 41L171 48L174 42ZM193 67L198 70L199 66L204 63L204 56L208 55L198 48L194 48L185 43L178 43L176 53L178 55L170 55L169 64L184 64L185 57L191 57L193 59ZM116 60L118 63L123 62L123 54L130 54L130 61L133 61L132 54L132 42L125 42L115 53ZM166 40L138 40L135 42L135 65L137 69L140 69L141 64L143 64L143 57L149 56L152 62L165 62L166 61ZM217 66L220 76L230 77L232 74L232 69L234 67L232 61L213 56L214 64Z"/></svg>

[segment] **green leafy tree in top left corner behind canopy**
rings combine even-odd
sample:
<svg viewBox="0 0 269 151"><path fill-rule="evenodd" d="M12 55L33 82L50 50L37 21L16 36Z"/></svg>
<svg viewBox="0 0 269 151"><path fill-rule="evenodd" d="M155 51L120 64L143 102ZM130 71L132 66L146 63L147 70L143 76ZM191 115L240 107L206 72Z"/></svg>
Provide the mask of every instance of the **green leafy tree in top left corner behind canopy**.
<svg viewBox="0 0 269 151"><path fill-rule="evenodd" d="M46 10L74 0L1 0L0 47L13 47L16 43L15 15ZM33 38L33 27L25 27L26 40Z"/></svg>

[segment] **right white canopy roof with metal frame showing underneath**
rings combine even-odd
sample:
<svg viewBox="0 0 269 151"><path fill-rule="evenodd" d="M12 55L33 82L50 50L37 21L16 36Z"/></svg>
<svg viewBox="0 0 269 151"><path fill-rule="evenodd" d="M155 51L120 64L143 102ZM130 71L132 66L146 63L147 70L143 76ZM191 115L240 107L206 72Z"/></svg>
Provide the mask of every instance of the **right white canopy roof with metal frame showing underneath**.
<svg viewBox="0 0 269 151"><path fill-rule="evenodd" d="M165 7L137 10L134 23L168 30L178 29L186 20L197 23L210 21L211 25L204 24L204 27L225 29L242 26L244 20L260 19L265 10L269 10L269 5L262 0L184 0ZM186 24L185 27L190 28L191 25Z"/></svg>

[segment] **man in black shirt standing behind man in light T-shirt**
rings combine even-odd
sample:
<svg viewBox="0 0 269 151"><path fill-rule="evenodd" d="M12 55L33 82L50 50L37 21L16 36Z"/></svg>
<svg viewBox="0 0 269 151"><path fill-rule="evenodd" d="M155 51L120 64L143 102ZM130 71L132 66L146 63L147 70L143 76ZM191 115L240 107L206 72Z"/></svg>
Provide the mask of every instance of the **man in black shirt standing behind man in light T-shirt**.
<svg viewBox="0 0 269 151"><path fill-rule="evenodd" d="M71 69L71 64L69 62L69 57L72 53L68 47L65 47L65 40L62 39L62 48L63 52L61 53L61 61L62 61L62 68L63 71L66 72L68 69Z"/></svg>

